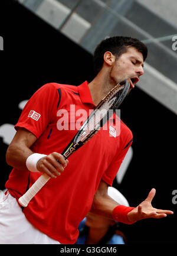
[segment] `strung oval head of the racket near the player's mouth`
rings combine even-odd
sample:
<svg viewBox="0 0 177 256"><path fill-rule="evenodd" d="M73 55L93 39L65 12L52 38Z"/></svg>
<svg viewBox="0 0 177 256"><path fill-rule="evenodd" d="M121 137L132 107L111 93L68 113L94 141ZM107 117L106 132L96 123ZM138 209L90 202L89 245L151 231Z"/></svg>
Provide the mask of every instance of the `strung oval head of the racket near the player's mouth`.
<svg viewBox="0 0 177 256"><path fill-rule="evenodd" d="M113 112L119 108L127 93L129 92L130 83L123 81L116 86L101 100L99 105L89 115L80 130L74 137L74 144L86 142L89 140L103 125L108 121L109 110Z"/></svg>

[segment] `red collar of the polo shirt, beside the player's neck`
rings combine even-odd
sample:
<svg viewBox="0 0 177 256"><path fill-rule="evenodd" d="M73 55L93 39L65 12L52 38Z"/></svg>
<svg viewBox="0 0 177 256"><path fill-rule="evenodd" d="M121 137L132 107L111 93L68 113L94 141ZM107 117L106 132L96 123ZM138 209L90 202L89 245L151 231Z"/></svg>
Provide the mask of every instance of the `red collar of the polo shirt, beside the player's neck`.
<svg viewBox="0 0 177 256"><path fill-rule="evenodd" d="M91 98L89 83L87 81L78 86L78 93L80 95L82 103L90 103L94 105L93 100Z"/></svg>

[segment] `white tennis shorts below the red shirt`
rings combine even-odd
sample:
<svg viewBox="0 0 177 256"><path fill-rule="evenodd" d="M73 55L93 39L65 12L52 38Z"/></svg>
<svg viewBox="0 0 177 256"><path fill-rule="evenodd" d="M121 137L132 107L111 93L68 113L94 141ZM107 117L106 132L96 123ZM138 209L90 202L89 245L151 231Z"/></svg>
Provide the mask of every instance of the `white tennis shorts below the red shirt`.
<svg viewBox="0 0 177 256"><path fill-rule="evenodd" d="M5 195L6 194L6 195ZM25 218L15 197L0 190L0 244L60 244Z"/></svg>

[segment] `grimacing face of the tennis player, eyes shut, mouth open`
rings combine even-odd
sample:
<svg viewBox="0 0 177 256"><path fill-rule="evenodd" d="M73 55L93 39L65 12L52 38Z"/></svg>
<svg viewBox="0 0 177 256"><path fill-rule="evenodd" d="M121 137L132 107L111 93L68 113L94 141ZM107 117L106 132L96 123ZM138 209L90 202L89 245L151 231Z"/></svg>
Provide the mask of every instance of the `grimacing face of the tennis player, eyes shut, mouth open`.
<svg viewBox="0 0 177 256"><path fill-rule="evenodd" d="M119 59L114 61L110 72L110 79L114 83L127 80L130 83L131 90L135 87L143 73L143 54L134 47L128 47L126 53L123 53Z"/></svg>

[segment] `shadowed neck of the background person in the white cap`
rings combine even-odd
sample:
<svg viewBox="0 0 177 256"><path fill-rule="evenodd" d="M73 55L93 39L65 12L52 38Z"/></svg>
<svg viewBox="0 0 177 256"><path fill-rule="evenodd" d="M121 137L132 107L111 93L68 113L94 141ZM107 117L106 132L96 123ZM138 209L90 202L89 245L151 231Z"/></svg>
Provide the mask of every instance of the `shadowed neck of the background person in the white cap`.
<svg viewBox="0 0 177 256"><path fill-rule="evenodd" d="M89 228L89 234L86 238L86 244L98 244L98 242L107 234L108 228Z"/></svg>

